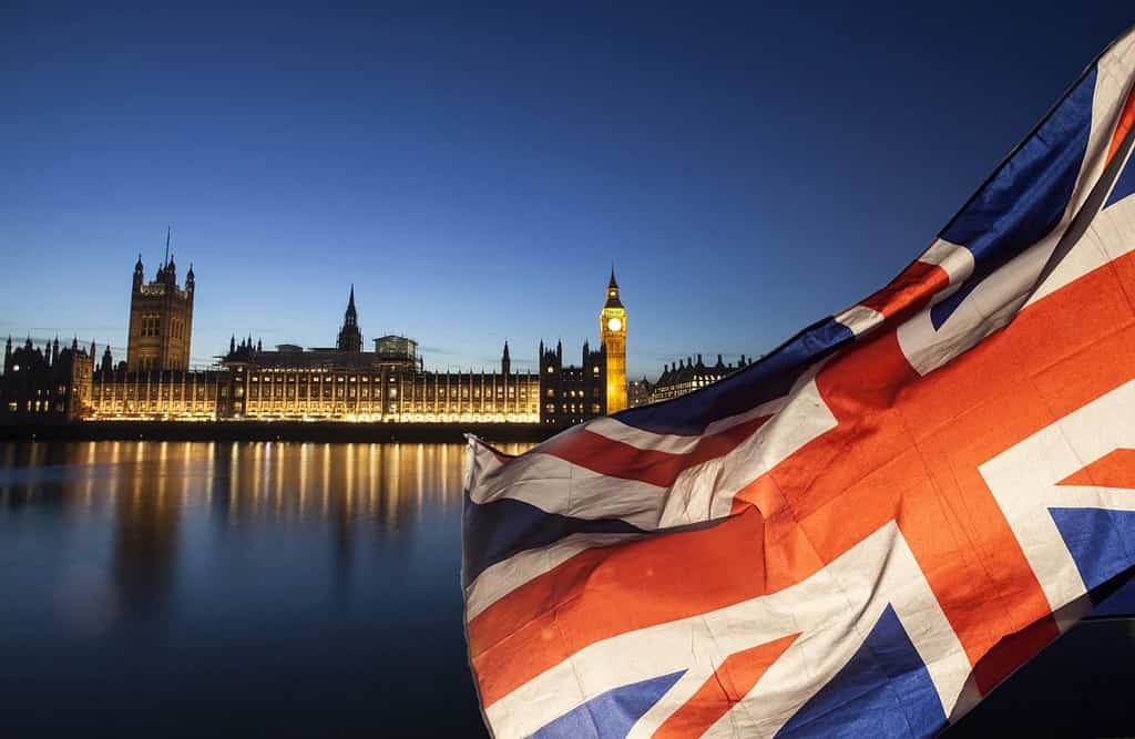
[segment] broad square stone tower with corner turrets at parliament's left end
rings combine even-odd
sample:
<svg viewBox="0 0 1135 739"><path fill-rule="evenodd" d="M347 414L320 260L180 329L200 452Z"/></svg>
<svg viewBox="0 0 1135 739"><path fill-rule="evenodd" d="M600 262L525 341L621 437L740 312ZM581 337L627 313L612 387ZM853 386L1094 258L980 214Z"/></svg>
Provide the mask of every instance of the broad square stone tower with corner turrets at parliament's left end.
<svg viewBox="0 0 1135 739"><path fill-rule="evenodd" d="M177 286L177 266L169 254L146 283L142 254L134 264L131 291L131 324L126 339L126 367L129 371L190 369L190 343L193 336L193 266L185 275L185 287Z"/></svg>

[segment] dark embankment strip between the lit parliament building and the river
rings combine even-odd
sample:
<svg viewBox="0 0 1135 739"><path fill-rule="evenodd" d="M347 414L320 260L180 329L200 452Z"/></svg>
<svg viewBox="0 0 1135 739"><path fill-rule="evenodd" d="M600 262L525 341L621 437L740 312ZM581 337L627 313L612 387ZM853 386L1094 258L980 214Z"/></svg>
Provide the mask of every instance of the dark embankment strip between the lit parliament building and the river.
<svg viewBox="0 0 1135 739"><path fill-rule="evenodd" d="M0 425L0 442L337 442L464 444L543 442L545 423L338 423L334 421L83 421Z"/></svg>

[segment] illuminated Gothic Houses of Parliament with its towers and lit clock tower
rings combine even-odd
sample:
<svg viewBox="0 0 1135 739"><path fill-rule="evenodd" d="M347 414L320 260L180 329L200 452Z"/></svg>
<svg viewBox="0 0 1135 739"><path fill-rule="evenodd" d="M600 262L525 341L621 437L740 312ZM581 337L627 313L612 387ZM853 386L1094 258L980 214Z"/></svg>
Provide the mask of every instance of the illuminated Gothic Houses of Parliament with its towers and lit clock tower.
<svg viewBox="0 0 1135 739"><path fill-rule="evenodd" d="M167 242L168 246L168 242ZM168 251L167 251L168 254ZM599 345L579 363L541 341L537 371L515 371L505 342L493 371L426 369L404 336L364 347L354 287L335 345L266 350L232 338L217 366L190 369L195 275L178 284L167 257L145 279L134 266L125 361L73 341L5 348L0 418L7 422L85 420L292 420L570 426L627 406L627 311L614 269L599 312Z"/></svg>

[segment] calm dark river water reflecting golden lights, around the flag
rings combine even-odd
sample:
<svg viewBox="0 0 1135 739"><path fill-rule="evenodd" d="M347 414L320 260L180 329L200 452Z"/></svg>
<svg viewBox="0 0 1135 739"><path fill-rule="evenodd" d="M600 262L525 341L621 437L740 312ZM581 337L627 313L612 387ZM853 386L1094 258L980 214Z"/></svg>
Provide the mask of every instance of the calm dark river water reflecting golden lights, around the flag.
<svg viewBox="0 0 1135 739"><path fill-rule="evenodd" d="M463 462L460 445L0 446L5 736L485 736ZM1132 733L1132 623L1075 629L950 736Z"/></svg>

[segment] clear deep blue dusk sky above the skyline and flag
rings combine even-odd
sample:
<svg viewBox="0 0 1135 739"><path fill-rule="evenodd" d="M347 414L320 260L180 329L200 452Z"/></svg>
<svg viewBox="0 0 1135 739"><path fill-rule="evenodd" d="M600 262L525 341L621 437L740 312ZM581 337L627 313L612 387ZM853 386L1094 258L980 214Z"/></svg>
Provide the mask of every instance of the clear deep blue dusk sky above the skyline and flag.
<svg viewBox="0 0 1135 739"><path fill-rule="evenodd" d="M0 7L0 333L125 345L167 225L193 355L253 333L429 366L597 341L767 351L914 258L1123 2ZM99 3L101 5L101 3ZM316 3L312 3L313 6ZM606 5L620 5L613 9ZM759 7L758 7L759 6Z"/></svg>

